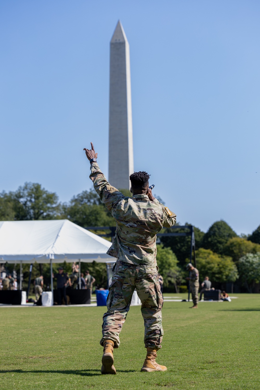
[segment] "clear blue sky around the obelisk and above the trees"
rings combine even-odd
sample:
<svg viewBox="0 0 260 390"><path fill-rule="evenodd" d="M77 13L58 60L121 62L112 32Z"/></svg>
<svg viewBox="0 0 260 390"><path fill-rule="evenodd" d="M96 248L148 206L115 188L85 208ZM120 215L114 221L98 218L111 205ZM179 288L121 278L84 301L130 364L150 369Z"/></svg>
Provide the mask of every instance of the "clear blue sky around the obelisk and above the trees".
<svg viewBox="0 0 260 390"><path fill-rule="evenodd" d="M108 172L109 42L130 44L134 168L177 220L260 224L258 0L2 0L0 190L89 189ZM120 169L120 167L119 167ZM256 173L257 172L257 173Z"/></svg>

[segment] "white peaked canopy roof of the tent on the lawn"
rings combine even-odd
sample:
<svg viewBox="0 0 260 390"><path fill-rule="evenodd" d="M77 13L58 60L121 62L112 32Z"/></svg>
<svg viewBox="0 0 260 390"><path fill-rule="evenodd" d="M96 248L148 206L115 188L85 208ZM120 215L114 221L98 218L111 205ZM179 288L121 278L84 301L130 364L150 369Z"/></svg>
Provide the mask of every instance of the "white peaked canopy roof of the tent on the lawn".
<svg viewBox="0 0 260 390"><path fill-rule="evenodd" d="M109 262L111 242L69 220L0 222L0 262Z"/></svg>

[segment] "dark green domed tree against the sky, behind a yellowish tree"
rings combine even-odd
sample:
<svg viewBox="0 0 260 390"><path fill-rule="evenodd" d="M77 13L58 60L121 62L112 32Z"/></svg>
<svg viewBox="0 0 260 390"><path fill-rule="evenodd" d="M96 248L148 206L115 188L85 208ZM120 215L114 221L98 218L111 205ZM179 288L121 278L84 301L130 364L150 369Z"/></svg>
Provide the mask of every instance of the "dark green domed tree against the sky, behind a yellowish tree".
<svg viewBox="0 0 260 390"><path fill-rule="evenodd" d="M205 233L202 247L222 255L225 252L226 243L232 237L237 237L237 234L225 221L221 220L213 223Z"/></svg>

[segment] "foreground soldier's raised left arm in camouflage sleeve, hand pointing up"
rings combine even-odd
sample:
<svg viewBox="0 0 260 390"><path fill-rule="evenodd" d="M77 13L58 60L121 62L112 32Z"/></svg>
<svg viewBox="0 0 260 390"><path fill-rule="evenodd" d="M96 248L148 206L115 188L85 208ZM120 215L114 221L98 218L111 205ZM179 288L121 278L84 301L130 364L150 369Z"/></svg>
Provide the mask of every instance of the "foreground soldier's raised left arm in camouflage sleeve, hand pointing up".
<svg viewBox="0 0 260 390"><path fill-rule="evenodd" d="M94 184L94 189L99 195L102 202L106 205L108 210L112 211L113 208L118 204L118 202L120 202L120 200L124 198L124 195L115 187L111 186L106 180L106 177L104 176L103 172L101 172L96 161L97 153L95 152L92 142L91 149L88 150L84 148L84 150L86 152L88 160L90 161L91 173L89 177Z"/></svg>

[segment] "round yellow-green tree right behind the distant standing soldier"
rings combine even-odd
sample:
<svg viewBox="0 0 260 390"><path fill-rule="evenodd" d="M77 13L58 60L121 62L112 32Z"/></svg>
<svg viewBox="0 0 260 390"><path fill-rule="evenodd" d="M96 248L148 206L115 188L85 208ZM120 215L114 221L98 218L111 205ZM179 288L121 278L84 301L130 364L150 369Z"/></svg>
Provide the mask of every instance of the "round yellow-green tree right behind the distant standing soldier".
<svg viewBox="0 0 260 390"><path fill-rule="evenodd" d="M208 276L212 282L235 282L238 278L237 267L231 257L218 255L210 249L196 250L197 268L200 280Z"/></svg>

